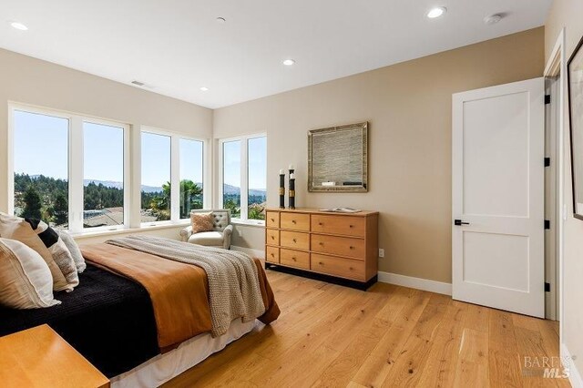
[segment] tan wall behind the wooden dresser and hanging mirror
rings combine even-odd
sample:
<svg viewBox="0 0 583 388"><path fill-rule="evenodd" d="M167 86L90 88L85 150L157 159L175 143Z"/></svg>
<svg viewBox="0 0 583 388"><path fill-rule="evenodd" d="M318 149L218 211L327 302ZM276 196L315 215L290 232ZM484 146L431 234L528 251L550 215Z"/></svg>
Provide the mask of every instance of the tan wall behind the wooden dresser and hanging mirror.
<svg viewBox="0 0 583 388"><path fill-rule="evenodd" d="M214 136L267 132L270 206L277 205L278 170L293 163L298 206L381 212L381 271L451 282L452 93L541 77L543 36L541 27L220 108ZM308 193L307 131L365 120L369 192ZM263 249L262 230L240 229L249 247Z"/></svg>

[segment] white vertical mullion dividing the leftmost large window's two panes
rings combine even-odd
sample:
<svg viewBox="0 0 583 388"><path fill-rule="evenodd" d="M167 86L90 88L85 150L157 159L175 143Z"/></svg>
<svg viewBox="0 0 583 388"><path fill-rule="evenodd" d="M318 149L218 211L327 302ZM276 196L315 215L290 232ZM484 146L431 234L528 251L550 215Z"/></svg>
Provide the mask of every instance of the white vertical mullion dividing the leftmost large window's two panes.
<svg viewBox="0 0 583 388"><path fill-rule="evenodd" d="M83 119L69 119L69 230L83 230Z"/></svg>

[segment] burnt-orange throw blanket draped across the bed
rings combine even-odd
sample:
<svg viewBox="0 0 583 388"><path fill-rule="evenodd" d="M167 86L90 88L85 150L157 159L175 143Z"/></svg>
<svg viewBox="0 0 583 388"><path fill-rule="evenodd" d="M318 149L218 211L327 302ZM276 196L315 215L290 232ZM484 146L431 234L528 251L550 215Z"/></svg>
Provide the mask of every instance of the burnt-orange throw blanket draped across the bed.
<svg viewBox="0 0 583 388"><path fill-rule="evenodd" d="M81 251L93 264L144 286L152 301L162 352L200 333L210 332L209 285L207 274L201 268L106 243L85 245ZM278 318L280 309L261 261L254 261L265 305L265 313L259 320L268 324Z"/></svg>

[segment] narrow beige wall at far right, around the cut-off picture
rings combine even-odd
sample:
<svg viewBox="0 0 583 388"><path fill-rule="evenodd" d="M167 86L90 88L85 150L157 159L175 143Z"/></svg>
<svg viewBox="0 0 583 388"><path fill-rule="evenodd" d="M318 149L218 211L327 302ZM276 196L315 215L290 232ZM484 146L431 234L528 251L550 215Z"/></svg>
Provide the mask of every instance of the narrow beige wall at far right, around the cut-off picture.
<svg viewBox="0 0 583 388"><path fill-rule="evenodd" d="M545 53L548 58L557 41L558 34L565 27L567 57L583 36L583 2L581 0L555 0L545 25ZM575 361L579 373L583 373L583 221L573 218L573 196L570 164L570 143L568 136L568 110L564 112L565 164L563 171L564 200L568 217L564 223L563 257L563 332L561 342L565 343Z"/></svg>

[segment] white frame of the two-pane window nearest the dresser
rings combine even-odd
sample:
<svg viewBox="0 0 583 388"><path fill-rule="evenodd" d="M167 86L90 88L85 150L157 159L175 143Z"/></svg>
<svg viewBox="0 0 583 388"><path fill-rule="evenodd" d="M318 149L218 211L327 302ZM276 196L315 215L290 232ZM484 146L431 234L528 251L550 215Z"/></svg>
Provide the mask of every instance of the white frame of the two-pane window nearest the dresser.
<svg viewBox="0 0 583 388"><path fill-rule="evenodd" d="M267 133L254 133L251 135L242 135L234 138L220 138L219 139L219 206L222 208L223 203L223 188L224 188L224 144L231 141L240 140L240 219L232 218L233 223L264 226L265 220L249 220L249 143L251 138L265 138L267 144ZM267 154L267 146L265 148ZM266 177L267 178L267 177ZM267 188L266 188L267 189Z"/></svg>

